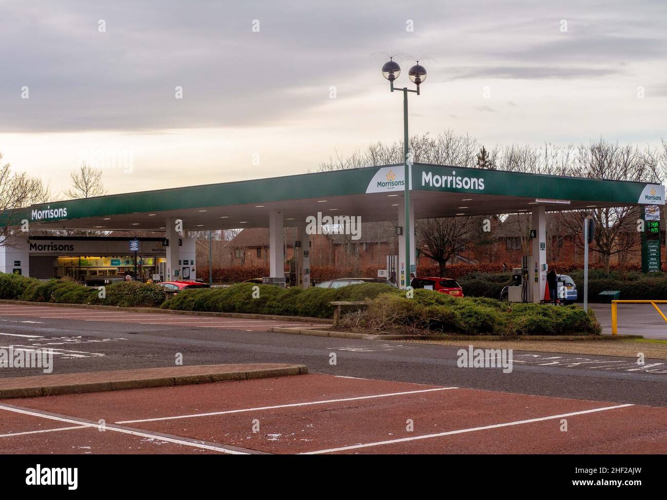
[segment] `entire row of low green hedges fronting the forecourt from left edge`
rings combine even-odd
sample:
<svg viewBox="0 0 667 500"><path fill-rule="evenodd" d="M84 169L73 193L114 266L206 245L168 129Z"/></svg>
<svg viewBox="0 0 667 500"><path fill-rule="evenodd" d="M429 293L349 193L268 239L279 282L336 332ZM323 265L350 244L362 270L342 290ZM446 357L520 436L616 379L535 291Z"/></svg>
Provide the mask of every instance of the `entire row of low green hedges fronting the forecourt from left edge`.
<svg viewBox="0 0 667 500"><path fill-rule="evenodd" d="M255 286L259 287L258 298L252 298ZM356 314L356 319L362 328L371 330L400 328L470 335L600 333L593 312L586 314L575 306L508 304L492 298L455 298L433 290L415 290L414 298L408 299L405 291L378 283L307 290L242 283L228 288L185 290L166 301L162 288L155 284L121 282L107 286L105 292L106 297L99 298L97 288L70 281L41 282L0 274L0 298L34 302L331 318L333 307L329 302L368 300L368 308Z"/></svg>

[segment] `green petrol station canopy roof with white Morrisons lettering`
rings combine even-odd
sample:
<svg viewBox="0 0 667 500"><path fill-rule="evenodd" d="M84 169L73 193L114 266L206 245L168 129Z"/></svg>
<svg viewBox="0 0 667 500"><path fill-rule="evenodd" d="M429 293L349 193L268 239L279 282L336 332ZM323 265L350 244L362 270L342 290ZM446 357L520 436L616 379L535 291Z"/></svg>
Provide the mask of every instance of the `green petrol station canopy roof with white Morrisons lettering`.
<svg viewBox="0 0 667 500"><path fill-rule="evenodd" d="M411 168L416 218L547 210L664 205L662 184L526 174L430 164ZM111 194L33 205L5 215L3 225L31 228L161 230L181 218L188 230L267 226L271 209L285 226L317 212L396 220L404 166L387 165L273 178Z"/></svg>

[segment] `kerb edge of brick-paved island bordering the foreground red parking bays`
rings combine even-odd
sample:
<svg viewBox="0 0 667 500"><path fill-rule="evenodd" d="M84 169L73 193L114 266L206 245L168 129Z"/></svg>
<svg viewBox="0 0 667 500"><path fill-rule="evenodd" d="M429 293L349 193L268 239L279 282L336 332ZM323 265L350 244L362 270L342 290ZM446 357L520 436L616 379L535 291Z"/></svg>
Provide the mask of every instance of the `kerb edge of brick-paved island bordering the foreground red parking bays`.
<svg viewBox="0 0 667 500"><path fill-rule="evenodd" d="M169 375L165 377L141 377L142 370L137 372L136 378L124 380L109 380L81 383L54 383L53 385L34 385L27 387L5 387L0 389L0 399L13 397L37 397L47 395L77 394L101 391L121 391L125 389L141 389L145 387L164 387L167 385L189 385L195 383L211 383L221 381L239 381L269 377L284 377L289 375L303 375L308 373L305 365L288 365L279 368L256 368L239 371L219 371L209 374ZM113 374L113 372L110 372ZM98 372L99 374L99 372ZM58 377L59 375L47 375ZM4 379L7 382L11 379ZM17 380L25 381L24 377Z"/></svg>

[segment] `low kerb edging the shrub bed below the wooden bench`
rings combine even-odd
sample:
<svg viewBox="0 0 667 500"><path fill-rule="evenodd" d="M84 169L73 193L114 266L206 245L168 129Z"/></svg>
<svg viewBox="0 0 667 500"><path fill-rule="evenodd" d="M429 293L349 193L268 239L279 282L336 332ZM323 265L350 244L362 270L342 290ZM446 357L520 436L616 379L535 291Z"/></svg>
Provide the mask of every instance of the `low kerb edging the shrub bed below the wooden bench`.
<svg viewBox="0 0 667 500"><path fill-rule="evenodd" d="M273 326L269 332L276 334L311 335L315 337L352 338L360 340L628 340L643 339L641 335L386 335L333 332Z"/></svg>

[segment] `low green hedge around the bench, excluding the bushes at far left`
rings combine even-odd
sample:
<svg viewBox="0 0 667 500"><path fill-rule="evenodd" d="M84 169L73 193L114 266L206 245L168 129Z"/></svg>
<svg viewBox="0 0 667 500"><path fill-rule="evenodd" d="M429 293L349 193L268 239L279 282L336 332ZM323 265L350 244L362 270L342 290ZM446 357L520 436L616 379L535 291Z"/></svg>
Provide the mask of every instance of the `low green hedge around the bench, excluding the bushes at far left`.
<svg viewBox="0 0 667 500"><path fill-rule="evenodd" d="M360 314L362 328L408 331L427 330L458 334L599 334L593 312L575 306L508 304L490 298L455 298L433 290L415 290L414 298L388 285L367 283L327 288L278 288L253 284L228 288L185 290L169 299L163 308L187 311L244 312L331 318L328 302L369 300ZM359 314L358 316L359 317Z"/></svg>

